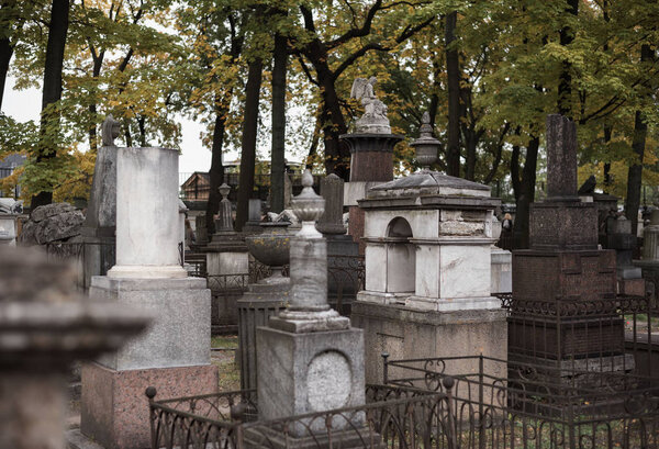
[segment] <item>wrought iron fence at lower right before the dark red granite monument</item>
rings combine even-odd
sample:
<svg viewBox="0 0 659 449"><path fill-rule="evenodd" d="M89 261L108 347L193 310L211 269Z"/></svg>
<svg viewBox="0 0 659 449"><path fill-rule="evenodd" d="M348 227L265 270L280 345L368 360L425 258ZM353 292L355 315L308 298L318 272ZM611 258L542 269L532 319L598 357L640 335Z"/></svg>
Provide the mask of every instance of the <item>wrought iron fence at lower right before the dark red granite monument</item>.
<svg viewBox="0 0 659 449"><path fill-rule="evenodd" d="M451 380L457 448L659 447L659 388L646 388L633 375L587 371L581 374L599 381L587 389L551 382L579 372L484 356L383 357L389 384L442 393Z"/></svg>

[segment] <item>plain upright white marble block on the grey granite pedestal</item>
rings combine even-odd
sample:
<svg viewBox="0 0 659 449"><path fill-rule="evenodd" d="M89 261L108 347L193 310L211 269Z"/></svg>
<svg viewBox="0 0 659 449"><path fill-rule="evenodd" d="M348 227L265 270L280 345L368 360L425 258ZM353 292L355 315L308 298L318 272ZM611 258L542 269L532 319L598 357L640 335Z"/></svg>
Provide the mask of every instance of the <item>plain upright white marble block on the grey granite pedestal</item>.
<svg viewBox="0 0 659 449"><path fill-rule="evenodd" d="M119 148L112 278L185 278L179 260L178 151Z"/></svg>

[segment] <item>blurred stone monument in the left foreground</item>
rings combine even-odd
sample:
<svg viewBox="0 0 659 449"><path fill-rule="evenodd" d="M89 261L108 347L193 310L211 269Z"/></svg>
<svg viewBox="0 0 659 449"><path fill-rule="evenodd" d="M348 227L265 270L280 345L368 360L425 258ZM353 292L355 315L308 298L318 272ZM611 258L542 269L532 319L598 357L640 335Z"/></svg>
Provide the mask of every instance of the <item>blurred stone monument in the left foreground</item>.
<svg viewBox="0 0 659 449"><path fill-rule="evenodd" d="M76 360L116 350L148 315L75 292L76 273L0 247L0 447L67 447L66 380Z"/></svg>

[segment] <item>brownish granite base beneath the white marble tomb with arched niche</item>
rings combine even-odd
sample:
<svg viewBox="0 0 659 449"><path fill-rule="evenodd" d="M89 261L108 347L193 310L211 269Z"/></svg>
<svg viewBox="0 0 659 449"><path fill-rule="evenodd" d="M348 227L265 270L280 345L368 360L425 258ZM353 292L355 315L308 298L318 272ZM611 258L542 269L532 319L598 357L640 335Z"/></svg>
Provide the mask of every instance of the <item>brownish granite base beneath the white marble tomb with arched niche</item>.
<svg viewBox="0 0 659 449"><path fill-rule="evenodd" d="M350 317L355 326L364 329L367 383L382 383L382 352L388 352L391 360L479 353L507 358L506 313L502 308L415 311L403 305L357 301ZM453 372L471 370L469 366L453 367ZM395 371L391 374L396 375ZM505 378L505 364L488 367L487 374Z"/></svg>

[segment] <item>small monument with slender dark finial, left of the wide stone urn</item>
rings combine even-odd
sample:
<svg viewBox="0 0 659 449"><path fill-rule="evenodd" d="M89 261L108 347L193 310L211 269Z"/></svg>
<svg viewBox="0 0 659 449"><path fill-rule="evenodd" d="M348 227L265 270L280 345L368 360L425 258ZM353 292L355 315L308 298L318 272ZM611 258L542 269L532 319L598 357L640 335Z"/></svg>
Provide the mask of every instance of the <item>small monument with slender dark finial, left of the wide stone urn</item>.
<svg viewBox="0 0 659 449"><path fill-rule="evenodd" d="M211 325L213 332L238 324L236 301L243 295L249 277L249 254L242 236L234 231L226 183L220 188L222 201L215 234L206 251L206 280L211 289Z"/></svg>

